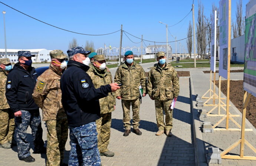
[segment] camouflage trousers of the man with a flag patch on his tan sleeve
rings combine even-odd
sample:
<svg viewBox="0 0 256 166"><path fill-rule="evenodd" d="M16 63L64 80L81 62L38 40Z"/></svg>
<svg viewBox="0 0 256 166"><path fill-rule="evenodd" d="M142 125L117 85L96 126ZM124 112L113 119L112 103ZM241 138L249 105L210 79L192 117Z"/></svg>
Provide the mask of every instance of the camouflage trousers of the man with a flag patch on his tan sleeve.
<svg viewBox="0 0 256 166"><path fill-rule="evenodd" d="M64 150L68 139L68 120L66 118L60 120L46 121L47 125L47 148L46 156L47 166L62 165L64 158Z"/></svg>

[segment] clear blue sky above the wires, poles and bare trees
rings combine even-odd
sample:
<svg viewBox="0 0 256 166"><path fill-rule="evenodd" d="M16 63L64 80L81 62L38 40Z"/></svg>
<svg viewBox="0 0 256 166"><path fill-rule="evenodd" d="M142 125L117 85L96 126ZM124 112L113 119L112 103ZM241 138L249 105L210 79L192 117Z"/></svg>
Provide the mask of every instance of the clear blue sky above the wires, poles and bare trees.
<svg viewBox="0 0 256 166"><path fill-rule="evenodd" d="M70 31L85 34L105 34L120 29L150 41L166 41L166 29L163 23L173 25L180 21L191 10L193 0L147 0L147 1L85 1L85 0L0 0L1 2L16 8L32 17L45 21ZM243 0L243 16L245 16L246 3ZM219 6L219 0L202 0L204 13L210 16L211 6L215 3ZM195 21L197 21L198 1L194 0ZM13 9L0 4L0 10L6 11L6 38L9 49L37 49L46 48L49 50L68 49L69 41L72 38L78 40L80 46L85 46L86 40L92 40L95 48L104 47L104 43L119 47L120 32L106 36L86 36L73 34L63 30L50 27L49 25L33 20ZM236 0L232 0L232 19L236 15ZM3 14L0 13L0 48L4 48ZM188 23L192 23L192 12L179 24L170 27L172 35L177 39L187 37ZM129 36L134 42L140 39ZM174 41L168 33L168 40ZM149 45L150 42L145 42ZM154 43L151 43L154 45ZM181 41L186 49L186 40ZM134 44L123 35L122 46L140 46ZM145 45L144 45L145 46ZM175 42L171 43L173 52ZM179 52L179 43L177 43ZM182 52L182 51L181 51Z"/></svg>

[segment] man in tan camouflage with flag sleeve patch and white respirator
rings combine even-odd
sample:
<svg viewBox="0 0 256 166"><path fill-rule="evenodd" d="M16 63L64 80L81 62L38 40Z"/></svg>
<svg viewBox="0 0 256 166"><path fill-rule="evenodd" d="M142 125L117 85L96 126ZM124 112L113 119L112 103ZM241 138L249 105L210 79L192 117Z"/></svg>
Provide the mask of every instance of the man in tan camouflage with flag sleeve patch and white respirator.
<svg viewBox="0 0 256 166"><path fill-rule="evenodd" d="M68 139L68 120L61 102L60 77L67 66L67 55L57 49L50 52L49 69L37 78L33 98L43 111L47 125L47 166L62 165Z"/></svg>

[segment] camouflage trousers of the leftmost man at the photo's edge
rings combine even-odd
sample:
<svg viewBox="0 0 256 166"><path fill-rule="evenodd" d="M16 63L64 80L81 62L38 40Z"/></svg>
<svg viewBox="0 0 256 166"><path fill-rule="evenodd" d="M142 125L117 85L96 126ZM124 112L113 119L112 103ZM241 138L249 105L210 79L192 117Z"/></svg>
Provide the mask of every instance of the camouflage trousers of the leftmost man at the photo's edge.
<svg viewBox="0 0 256 166"><path fill-rule="evenodd" d="M0 110L0 144L12 142L15 124L10 109Z"/></svg>

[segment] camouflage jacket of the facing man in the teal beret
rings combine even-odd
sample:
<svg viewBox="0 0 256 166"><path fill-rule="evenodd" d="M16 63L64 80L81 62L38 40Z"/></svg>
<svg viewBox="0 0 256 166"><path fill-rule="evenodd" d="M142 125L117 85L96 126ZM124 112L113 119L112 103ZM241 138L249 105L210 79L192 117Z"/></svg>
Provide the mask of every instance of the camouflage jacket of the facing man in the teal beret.
<svg viewBox="0 0 256 166"><path fill-rule="evenodd" d="M143 93L146 93L146 76L141 65L133 62L129 67L123 63L116 70L115 83L122 84L121 89L116 91L116 97L121 96L123 100L135 100L140 97L139 86L141 85Z"/></svg>

